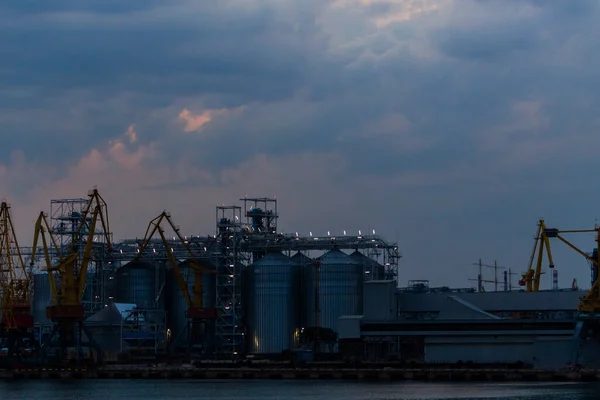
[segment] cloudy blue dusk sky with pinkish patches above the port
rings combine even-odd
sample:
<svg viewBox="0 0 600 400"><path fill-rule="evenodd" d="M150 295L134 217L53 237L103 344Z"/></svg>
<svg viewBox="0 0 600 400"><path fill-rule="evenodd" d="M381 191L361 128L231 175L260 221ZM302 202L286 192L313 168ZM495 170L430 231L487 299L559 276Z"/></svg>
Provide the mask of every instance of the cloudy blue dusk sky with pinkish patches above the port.
<svg viewBox="0 0 600 400"><path fill-rule="evenodd" d="M212 234L216 205L277 196L281 231L397 241L401 286L472 286L479 258L521 273L540 218L600 216L598 18L596 0L5 1L0 197L21 246L94 187L116 239L164 209ZM560 286L589 286L553 248Z"/></svg>

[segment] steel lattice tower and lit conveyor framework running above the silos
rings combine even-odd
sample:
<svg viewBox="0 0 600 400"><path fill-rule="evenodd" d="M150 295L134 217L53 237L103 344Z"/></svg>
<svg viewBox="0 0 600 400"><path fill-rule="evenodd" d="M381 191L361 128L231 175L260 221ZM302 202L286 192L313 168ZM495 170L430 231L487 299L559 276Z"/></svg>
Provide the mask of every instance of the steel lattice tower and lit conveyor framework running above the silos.
<svg viewBox="0 0 600 400"><path fill-rule="evenodd" d="M144 239L126 239L112 243L110 259L103 258L103 244L106 241L99 226L94 243L97 252L90 262L90 274L87 277L86 291L94 293L86 295L84 302L86 312L98 311L113 299L109 283L118 265L134 259L149 261L168 261L170 256L182 262L190 258L190 252L198 261L210 260L217 267L216 335L217 349L223 356L242 354L244 352L244 316L242 313L242 270L267 252L280 251L292 255L300 251L307 256L333 249L360 250L363 254L379 262L385 267L385 278L396 279L398 264L402 255L395 243L387 242L383 237L375 235L349 236L300 236L298 234L277 233L277 199L248 198L241 199L243 206L216 207L216 232L209 236L182 236L180 238L152 238L145 244ZM78 228L76 216L82 211L82 199L52 200L52 233L66 252L71 242L72 232ZM110 236L109 236L110 237ZM148 239L148 238L146 238ZM38 251L32 258L32 248L25 248L23 254L33 264L42 264ZM52 250L52 249L51 249ZM56 254L51 258L57 260ZM312 257L314 258L314 257ZM104 276L104 279L101 277ZM96 296L100 296L97 298ZM89 310L89 311L88 311ZM159 324L160 325L160 324Z"/></svg>

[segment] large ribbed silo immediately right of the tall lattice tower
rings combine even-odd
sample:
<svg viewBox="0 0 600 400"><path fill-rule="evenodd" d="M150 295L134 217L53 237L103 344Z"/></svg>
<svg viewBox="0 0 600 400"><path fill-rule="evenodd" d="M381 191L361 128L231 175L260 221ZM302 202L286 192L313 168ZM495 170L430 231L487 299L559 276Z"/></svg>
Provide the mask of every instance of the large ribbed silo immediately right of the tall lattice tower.
<svg viewBox="0 0 600 400"><path fill-rule="evenodd" d="M292 349L300 327L301 268L282 253L269 253L248 268L248 353Z"/></svg>

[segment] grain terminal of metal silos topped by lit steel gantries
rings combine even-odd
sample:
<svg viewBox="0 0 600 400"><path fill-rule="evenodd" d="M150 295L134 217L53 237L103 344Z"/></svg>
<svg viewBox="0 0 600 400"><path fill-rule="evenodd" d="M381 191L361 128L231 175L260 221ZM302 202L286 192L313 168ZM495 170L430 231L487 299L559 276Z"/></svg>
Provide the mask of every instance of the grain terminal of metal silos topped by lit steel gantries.
<svg viewBox="0 0 600 400"><path fill-rule="evenodd" d="M57 333L62 328L47 310L60 295L57 282L68 278L58 269L49 273L46 264L59 265L60 253L74 243L79 249L89 243L87 256L81 250L75 255L89 264L85 279L77 278L85 283L81 331L75 329L67 347L81 354L86 343L86 354L97 359L92 354L102 353L104 361L272 358L317 345L335 352L339 317L361 314L364 282L396 279L401 258L397 245L374 231L278 233L277 200L271 198L217 207L212 236L182 235L164 212L143 239L110 243L108 221L101 213L92 216L92 201L99 209L106 204L97 191L90 196L52 200L50 218L42 215L36 225L38 236L50 239L22 248L33 266L31 309L45 354L64 346Z"/></svg>

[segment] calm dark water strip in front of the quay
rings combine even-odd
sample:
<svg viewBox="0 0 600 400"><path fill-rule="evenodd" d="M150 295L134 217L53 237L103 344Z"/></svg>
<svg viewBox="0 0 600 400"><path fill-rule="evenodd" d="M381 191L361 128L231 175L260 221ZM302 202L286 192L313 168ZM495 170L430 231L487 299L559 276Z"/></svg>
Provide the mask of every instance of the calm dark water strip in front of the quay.
<svg viewBox="0 0 600 400"><path fill-rule="evenodd" d="M424 384L322 381L14 381L0 382L4 400L597 400L600 385Z"/></svg>

